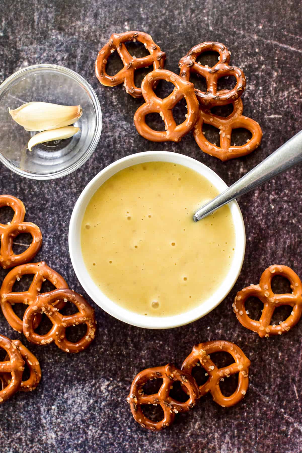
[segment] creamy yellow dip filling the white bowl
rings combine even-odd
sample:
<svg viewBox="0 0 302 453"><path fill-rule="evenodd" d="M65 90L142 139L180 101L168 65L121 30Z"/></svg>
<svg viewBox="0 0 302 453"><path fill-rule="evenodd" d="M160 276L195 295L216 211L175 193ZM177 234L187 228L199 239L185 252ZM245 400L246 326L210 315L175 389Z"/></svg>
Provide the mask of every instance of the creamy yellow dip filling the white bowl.
<svg viewBox="0 0 302 453"><path fill-rule="evenodd" d="M193 221L218 191L182 165L121 170L93 195L81 225L86 268L101 291L135 313L171 316L207 299L230 269L235 229L228 206Z"/></svg>

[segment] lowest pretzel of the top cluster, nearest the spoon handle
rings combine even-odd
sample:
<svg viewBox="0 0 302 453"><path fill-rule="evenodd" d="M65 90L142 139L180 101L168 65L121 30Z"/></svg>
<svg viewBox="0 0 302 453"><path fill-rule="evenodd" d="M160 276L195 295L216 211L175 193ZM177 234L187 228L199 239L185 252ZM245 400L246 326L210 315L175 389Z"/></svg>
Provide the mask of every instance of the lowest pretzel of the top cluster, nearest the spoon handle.
<svg viewBox="0 0 302 453"><path fill-rule="evenodd" d="M214 115L210 110L204 110L200 107L198 120L194 126L194 138L199 148L204 153L223 161L251 153L258 148L262 139L262 130L257 121L242 115L243 104L241 99L236 99L231 104L233 105L233 111L227 117ZM210 124L219 129L220 146L206 139L202 131L204 124ZM252 138L244 145L231 145L232 130L238 128L249 130Z"/></svg>

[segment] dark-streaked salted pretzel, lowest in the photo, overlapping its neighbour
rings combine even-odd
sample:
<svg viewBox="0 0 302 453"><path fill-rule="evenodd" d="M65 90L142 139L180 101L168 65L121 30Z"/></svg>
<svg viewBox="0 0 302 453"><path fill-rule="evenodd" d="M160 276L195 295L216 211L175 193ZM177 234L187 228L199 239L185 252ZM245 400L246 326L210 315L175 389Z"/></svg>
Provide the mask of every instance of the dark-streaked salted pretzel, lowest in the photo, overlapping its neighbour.
<svg viewBox="0 0 302 453"><path fill-rule="evenodd" d="M144 395L143 386L147 381L161 378L163 384L158 390L158 393L153 395ZM173 382L180 381L185 387L189 398L186 402L174 400L170 395L170 389ZM178 412L186 412L192 409L198 400L198 386L195 379L189 374L178 370L175 366L168 364L166 366L158 366L156 368L147 368L135 376L129 396L127 398L130 404L131 412L134 420L137 421L143 428L160 430L170 426ZM164 417L159 422L148 419L141 408L141 405L160 405L163 409Z"/></svg>

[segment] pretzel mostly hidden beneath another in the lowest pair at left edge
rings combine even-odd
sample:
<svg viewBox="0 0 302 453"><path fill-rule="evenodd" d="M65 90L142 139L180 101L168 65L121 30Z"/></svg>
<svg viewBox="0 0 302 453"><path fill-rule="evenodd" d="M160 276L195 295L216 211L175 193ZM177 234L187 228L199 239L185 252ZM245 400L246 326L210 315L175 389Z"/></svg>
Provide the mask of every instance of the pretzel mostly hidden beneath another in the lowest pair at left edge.
<svg viewBox="0 0 302 453"><path fill-rule="evenodd" d="M32 352L25 347L20 340L12 340L12 342L18 348L18 351L21 354L22 359L25 361L26 365L29 367L29 378L26 381L21 381L20 387L18 390L23 392L32 391L37 388L38 383L41 381L41 368L38 362L38 359ZM5 360L8 360L8 354L5 357ZM0 380L2 381L2 386L7 386L10 383L10 373L1 373Z"/></svg>

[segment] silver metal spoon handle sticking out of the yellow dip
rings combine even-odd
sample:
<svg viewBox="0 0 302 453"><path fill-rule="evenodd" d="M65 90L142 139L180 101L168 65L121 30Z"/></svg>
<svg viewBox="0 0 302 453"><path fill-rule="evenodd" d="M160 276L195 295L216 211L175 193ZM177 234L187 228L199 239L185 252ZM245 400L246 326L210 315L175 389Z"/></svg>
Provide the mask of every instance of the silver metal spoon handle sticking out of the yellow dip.
<svg viewBox="0 0 302 453"><path fill-rule="evenodd" d="M220 207L235 200L235 198L260 186L268 179L277 176L300 162L302 162L302 130L270 154L254 169L250 170L249 173L246 173L242 178L225 189L224 192L198 209L193 216L194 222L207 217Z"/></svg>

